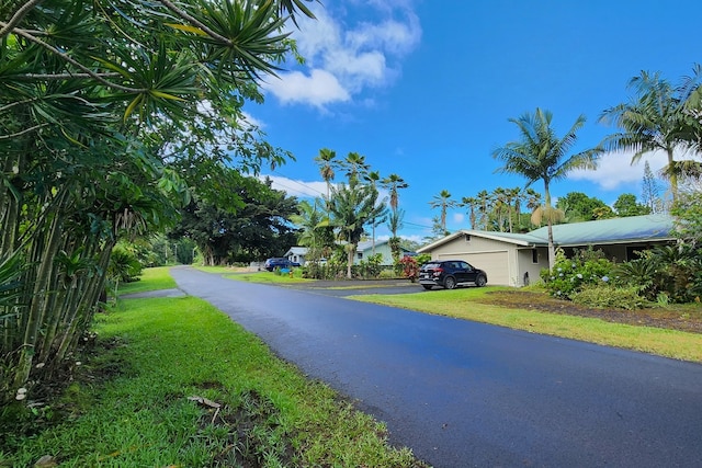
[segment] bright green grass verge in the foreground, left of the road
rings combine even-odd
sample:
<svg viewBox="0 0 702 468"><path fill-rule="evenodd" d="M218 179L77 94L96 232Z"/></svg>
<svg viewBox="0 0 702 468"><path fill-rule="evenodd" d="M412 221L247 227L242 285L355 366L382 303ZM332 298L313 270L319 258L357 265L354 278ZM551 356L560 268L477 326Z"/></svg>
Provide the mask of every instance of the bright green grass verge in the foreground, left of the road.
<svg viewBox="0 0 702 468"><path fill-rule="evenodd" d="M151 273L162 275L145 284ZM426 466L203 300L122 299L94 329L94 347L49 408L61 422L0 448L0 466L46 455L61 467Z"/></svg>

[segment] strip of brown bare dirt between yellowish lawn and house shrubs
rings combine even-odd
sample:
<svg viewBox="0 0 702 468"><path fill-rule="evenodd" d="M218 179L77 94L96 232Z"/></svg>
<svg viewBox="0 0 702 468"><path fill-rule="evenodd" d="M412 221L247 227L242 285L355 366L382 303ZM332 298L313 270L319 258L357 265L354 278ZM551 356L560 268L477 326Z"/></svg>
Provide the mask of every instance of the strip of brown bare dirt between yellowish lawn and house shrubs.
<svg viewBox="0 0 702 468"><path fill-rule="evenodd" d="M568 300L553 298L545 293L523 290L495 290L480 299L491 304L516 309L534 309L550 313L591 317L608 322L626 323L641 327L656 327L692 333L702 333L702 306L671 305L667 307L639 310L592 309Z"/></svg>

